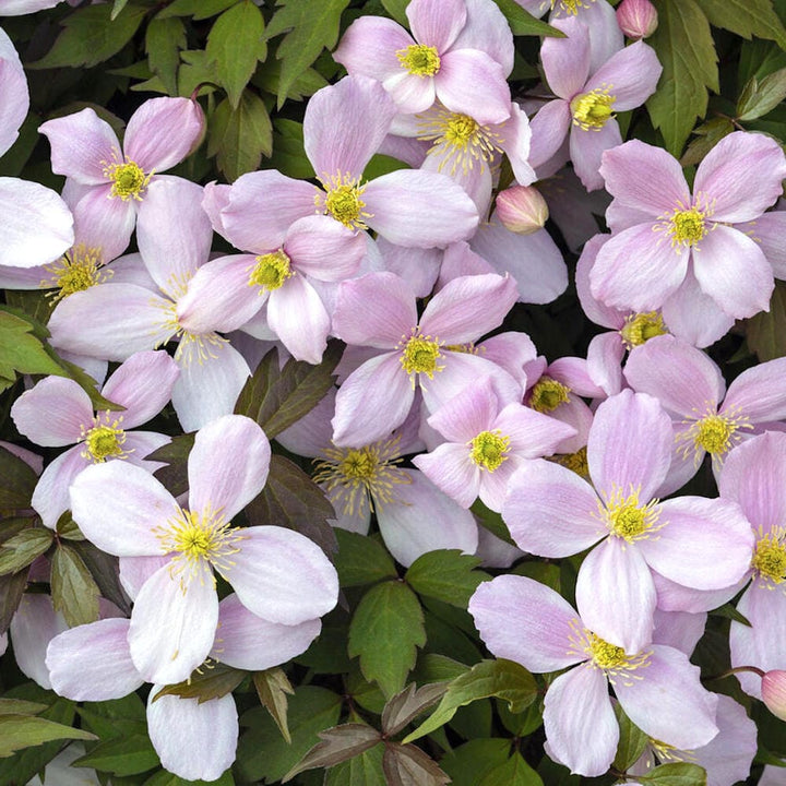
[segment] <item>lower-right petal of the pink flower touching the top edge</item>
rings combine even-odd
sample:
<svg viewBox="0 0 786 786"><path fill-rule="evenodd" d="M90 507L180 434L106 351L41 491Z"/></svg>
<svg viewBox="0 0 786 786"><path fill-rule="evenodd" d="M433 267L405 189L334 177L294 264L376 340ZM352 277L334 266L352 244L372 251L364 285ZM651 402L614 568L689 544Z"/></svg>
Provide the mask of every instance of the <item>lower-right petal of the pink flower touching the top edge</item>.
<svg viewBox="0 0 786 786"><path fill-rule="evenodd" d="M504 122L511 114L510 87L502 67L477 49L452 49L434 75L437 98L452 112L480 124Z"/></svg>

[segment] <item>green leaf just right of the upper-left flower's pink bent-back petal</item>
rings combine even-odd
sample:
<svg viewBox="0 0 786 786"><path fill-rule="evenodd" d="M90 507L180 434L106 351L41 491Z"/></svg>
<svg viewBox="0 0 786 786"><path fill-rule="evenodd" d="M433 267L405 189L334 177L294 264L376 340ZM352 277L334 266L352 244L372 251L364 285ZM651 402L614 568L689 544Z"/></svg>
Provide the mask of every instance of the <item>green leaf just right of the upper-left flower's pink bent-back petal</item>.
<svg viewBox="0 0 786 786"><path fill-rule="evenodd" d="M273 127L262 99L243 91L237 109L223 100L209 120L207 156L216 156L228 180L254 171L273 150Z"/></svg>

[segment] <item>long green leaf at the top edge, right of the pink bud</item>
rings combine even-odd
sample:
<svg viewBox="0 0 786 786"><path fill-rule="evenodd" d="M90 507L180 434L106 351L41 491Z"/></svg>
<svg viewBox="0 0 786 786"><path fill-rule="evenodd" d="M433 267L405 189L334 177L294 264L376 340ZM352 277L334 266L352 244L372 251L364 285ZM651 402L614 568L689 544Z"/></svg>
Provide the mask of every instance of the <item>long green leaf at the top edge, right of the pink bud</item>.
<svg viewBox="0 0 786 786"><path fill-rule="evenodd" d="M648 43L664 70L646 107L666 148L679 157L694 119L706 114L707 87L719 90L710 23L695 0L662 0L658 28Z"/></svg>

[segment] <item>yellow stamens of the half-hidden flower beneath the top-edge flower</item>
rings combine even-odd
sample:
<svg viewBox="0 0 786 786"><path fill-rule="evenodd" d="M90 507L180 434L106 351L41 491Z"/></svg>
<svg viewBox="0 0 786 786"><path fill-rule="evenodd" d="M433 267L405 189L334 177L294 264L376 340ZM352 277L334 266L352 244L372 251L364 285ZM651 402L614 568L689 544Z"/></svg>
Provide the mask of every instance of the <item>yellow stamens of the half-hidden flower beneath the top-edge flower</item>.
<svg viewBox="0 0 786 786"><path fill-rule="evenodd" d="M420 122L418 139L424 142L433 142L428 155L437 156L440 164L439 171L450 166L450 174L454 175L461 167L466 174L475 165L480 167L490 163L496 153L501 153L500 135L488 126L481 126L468 115L460 115L440 108Z"/></svg>

